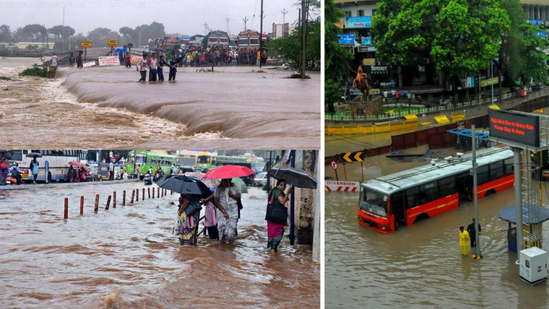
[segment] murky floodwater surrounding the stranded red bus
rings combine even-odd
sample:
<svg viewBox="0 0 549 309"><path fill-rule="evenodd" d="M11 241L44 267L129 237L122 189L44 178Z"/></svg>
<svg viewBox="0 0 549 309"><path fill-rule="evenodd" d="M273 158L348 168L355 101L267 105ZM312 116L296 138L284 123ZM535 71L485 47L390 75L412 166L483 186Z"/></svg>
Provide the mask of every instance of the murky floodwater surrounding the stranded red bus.
<svg viewBox="0 0 549 309"><path fill-rule="evenodd" d="M372 156L365 180L426 163ZM360 164L346 169L350 181L361 177ZM338 173L341 180L341 165ZM329 166L326 176L334 177ZM547 308L547 284L520 281L517 255L507 250L507 222L498 212L513 205L513 189L479 200L482 260L462 258L458 244L458 228L474 217L471 202L384 235L358 224L358 193L325 193L326 308ZM543 234L547 247L547 224Z"/></svg>

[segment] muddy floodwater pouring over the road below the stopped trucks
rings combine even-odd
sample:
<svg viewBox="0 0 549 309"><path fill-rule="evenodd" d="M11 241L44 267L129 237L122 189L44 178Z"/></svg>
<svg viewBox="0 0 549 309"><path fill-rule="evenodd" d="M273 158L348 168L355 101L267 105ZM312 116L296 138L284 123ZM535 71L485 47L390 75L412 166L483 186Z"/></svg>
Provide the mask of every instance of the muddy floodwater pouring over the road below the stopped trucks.
<svg viewBox="0 0 549 309"><path fill-rule="evenodd" d="M134 66L61 67L57 81L19 77L33 62L0 60L0 76L13 78L0 80L3 147L320 148L320 74L296 80L285 78L292 71L249 66L179 68L176 83L142 84Z"/></svg>

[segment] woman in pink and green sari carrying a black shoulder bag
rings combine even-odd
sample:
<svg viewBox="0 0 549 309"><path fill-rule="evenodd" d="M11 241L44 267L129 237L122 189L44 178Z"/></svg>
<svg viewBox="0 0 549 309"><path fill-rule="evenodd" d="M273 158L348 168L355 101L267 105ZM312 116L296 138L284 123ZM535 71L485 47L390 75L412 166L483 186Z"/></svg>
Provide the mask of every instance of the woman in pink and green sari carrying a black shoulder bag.
<svg viewBox="0 0 549 309"><path fill-rule="evenodd" d="M286 188L286 181L284 179L278 179L276 187L271 190L269 195L269 204L275 207L284 207L286 209L286 202L292 188ZM288 222L276 223L267 220L267 248L271 250L271 253L278 251L278 245L280 245L283 235L284 227L288 225Z"/></svg>

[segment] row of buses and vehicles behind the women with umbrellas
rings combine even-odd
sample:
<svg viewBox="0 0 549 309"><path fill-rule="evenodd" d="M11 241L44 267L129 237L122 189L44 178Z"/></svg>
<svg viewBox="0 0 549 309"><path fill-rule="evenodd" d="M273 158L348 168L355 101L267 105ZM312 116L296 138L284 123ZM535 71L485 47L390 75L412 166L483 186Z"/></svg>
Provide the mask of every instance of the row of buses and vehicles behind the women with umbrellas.
<svg viewBox="0 0 549 309"><path fill-rule="evenodd" d="M87 150L10 150L10 165L18 165L20 179L23 182L32 182L33 176L30 170L32 158L27 154L37 153L38 176L37 182L64 182L71 178L72 168L85 168L86 181L103 181L105 179L126 179L136 177L137 166L141 171L139 178L148 181L149 176L154 177L156 171L164 175L173 169L173 173L207 172L211 168L221 165L243 165L254 171L261 171L265 166L265 160L255 156L221 156L209 151L178 151L178 155L153 153L147 150L133 150L128 153L128 158L120 158L112 165L107 162L100 164L91 163ZM150 175L147 176L147 172ZM111 177L111 173L113 173ZM158 177L158 175L156 175ZM80 177L79 177L80 180ZM12 180L13 182L13 180ZM251 185L254 177L244 179Z"/></svg>

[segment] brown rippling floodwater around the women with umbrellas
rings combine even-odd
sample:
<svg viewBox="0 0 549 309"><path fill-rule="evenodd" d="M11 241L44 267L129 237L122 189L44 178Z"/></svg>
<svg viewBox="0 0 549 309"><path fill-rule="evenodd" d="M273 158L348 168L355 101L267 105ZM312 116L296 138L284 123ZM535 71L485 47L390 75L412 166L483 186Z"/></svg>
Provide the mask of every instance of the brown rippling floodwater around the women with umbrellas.
<svg viewBox="0 0 549 309"><path fill-rule="evenodd" d="M30 186L30 185L28 185ZM234 244L171 234L177 195L129 204L138 182L0 192L1 308L318 308L310 246L266 249L266 193L249 188ZM146 187L145 187L146 188ZM147 190L147 189L145 189ZM116 191L117 207L105 210ZM130 194L128 194L130 192ZM98 214L93 214L95 194ZM80 195L85 196L79 215ZM69 220L63 199L69 197Z"/></svg>

